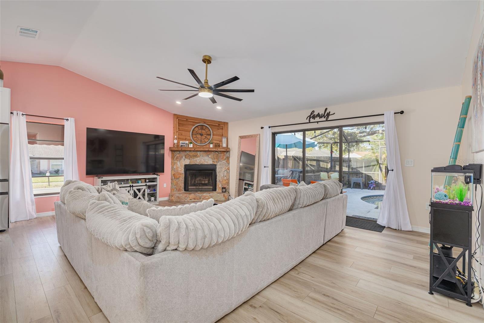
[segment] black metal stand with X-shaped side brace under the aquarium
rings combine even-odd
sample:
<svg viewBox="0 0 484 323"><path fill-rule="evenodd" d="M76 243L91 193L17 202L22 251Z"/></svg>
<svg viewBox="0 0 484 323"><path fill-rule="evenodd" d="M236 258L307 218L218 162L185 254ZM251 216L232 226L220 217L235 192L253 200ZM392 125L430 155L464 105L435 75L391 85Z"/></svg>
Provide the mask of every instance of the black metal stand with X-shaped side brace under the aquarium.
<svg viewBox="0 0 484 323"><path fill-rule="evenodd" d="M467 306L472 306L470 303L472 297L470 278L472 276L472 210L471 206L430 203L429 294L433 295L434 292L438 292L464 301ZM447 247L442 248L443 246ZM448 253L448 246L460 248L462 251L456 257L451 257ZM433 252L434 247L437 249L437 253ZM454 253L452 256L455 255ZM455 277L458 269L457 263L461 258L461 271L468 277L467 284L463 284Z"/></svg>

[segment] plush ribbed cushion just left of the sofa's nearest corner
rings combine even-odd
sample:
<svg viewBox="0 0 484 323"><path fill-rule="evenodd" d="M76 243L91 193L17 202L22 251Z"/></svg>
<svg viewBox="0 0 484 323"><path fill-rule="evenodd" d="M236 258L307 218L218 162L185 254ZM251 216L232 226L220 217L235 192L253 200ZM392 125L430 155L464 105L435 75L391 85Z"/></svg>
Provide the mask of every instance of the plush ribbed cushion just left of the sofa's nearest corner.
<svg viewBox="0 0 484 323"><path fill-rule="evenodd" d="M119 204L91 201L86 224L96 239L111 247L147 255L153 253L158 223Z"/></svg>

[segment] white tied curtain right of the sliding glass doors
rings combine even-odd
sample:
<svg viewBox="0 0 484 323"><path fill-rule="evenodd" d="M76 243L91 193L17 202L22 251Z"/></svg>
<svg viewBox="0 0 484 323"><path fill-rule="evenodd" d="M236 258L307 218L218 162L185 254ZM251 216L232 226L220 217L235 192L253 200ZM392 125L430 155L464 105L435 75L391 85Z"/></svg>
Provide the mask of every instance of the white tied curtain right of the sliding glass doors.
<svg viewBox="0 0 484 323"><path fill-rule="evenodd" d="M385 142L387 146L388 169L390 171L388 172L387 185L377 223L380 226L411 231L412 226L408 218L400 149L398 148L394 117L395 113L393 111L385 112Z"/></svg>

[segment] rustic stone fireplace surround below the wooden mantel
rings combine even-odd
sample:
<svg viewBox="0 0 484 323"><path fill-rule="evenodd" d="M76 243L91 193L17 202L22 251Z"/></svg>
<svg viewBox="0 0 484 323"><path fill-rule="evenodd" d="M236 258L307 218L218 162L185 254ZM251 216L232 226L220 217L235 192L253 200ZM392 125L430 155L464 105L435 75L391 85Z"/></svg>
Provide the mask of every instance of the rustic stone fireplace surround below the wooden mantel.
<svg viewBox="0 0 484 323"><path fill-rule="evenodd" d="M230 158L228 148L189 149L170 147L171 190L168 199L202 201L213 198L215 201L227 201ZM222 188L225 188L225 192L222 192Z"/></svg>

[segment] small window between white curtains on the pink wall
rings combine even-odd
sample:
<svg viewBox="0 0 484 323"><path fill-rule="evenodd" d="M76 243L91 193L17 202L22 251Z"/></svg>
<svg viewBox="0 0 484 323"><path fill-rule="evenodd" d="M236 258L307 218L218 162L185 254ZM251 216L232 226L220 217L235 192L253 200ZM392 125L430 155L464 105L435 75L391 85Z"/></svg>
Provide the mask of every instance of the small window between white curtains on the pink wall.
<svg viewBox="0 0 484 323"><path fill-rule="evenodd" d="M64 126L27 122L35 196L58 194L64 183Z"/></svg>

